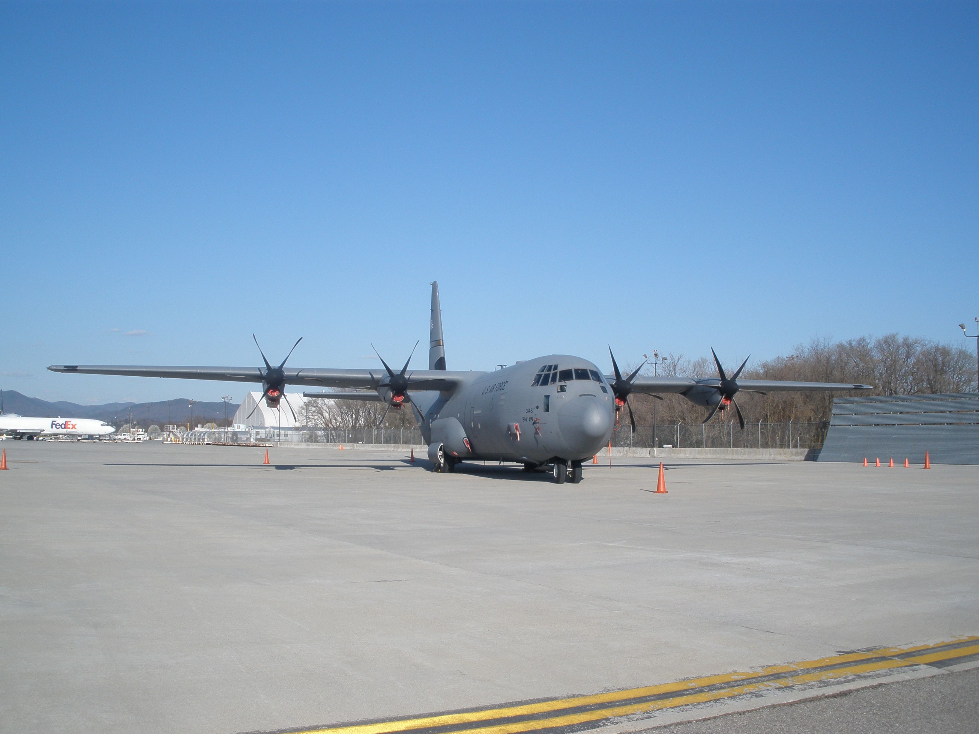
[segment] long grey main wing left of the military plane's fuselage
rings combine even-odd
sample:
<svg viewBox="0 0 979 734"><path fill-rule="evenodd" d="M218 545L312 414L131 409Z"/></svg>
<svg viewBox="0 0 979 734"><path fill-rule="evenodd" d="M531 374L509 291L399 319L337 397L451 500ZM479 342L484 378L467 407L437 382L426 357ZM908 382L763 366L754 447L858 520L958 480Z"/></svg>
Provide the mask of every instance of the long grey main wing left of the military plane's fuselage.
<svg viewBox="0 0 979 734"><path fill-rule="evenodd" d="M256 367L166 367L126 366L113 364L53 364L52 372L79 375L121 375L123 377L162 377L176 380L218 380L232 383L260 383L261 372ZM287 385L311 388L370 389L386 377L380 370L331 370L290 367L283 370ZM415 370L407 374L408 390L455 390L462 385L468 372Z"/></svg>

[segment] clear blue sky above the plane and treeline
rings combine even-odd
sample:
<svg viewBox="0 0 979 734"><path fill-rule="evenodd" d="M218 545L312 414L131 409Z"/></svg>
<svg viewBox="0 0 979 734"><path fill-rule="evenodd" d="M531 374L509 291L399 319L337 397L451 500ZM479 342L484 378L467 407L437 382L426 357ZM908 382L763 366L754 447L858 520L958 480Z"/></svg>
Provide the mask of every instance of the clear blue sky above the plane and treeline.
<svg viewBox="0 0 979 734"><path fill-rule="evenodd" d="M975 3L3 3L0 65L4 389L403 362L434 279L453 369L971 346Z"/></svg>

